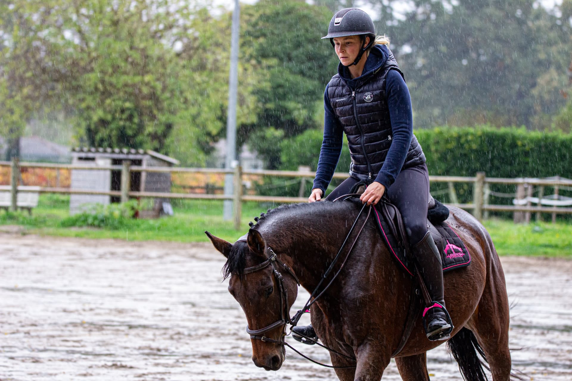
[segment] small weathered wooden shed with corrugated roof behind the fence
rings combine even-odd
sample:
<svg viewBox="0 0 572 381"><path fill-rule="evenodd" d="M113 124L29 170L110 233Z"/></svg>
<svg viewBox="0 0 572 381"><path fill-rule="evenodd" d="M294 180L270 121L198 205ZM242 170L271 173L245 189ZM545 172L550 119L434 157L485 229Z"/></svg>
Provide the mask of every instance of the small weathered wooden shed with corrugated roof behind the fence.
<svg viewBox="0 0 572 381"><path fill-rule="evenodd" d="M130 161L133 166L170 167L178 165L176 159L170 158L151 150L110 149L78 147L72 150L72 164L90 166L120 166L124 161ZM130 191L170 192L171 174L133 171L130 173ZM96 191L121 190L121 170L82 170L73 169L71 173L72 189L89 189ZM119 196L109 195L70 195L70 214L82 211L85 204L109 204L120 202ZM154 214L162 212L172 214L168 199L155 199Z"/></svg>

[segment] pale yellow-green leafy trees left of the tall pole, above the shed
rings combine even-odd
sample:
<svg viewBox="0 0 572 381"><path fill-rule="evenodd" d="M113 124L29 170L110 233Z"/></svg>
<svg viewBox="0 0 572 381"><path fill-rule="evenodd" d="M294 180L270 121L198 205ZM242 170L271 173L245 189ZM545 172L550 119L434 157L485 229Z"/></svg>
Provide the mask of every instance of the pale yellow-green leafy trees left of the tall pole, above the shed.
<svg viewBox="0 0 572 381"><path fill-rule="evenodd" d="M225 122L227 16L176 0L3 2L0 133L21 136L45 106L73 115L84 144L204 163ZM252 123L248 87L239 96Z"/></svg>

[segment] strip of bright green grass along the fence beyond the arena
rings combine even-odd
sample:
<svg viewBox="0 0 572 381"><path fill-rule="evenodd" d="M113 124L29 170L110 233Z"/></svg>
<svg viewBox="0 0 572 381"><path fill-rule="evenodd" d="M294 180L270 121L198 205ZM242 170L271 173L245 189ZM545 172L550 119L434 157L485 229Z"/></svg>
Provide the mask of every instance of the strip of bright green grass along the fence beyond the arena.
<svg viewBox="0 0 572 381"><path fill-rule="evenodd" d="M0 212L0 225L19 225L31 234L82 238L126 240L169 240L208 242L212 234L234 242L248 231L248 222L274 204L243 204L240 230L223 221L223 202L219 200L173 200L174 216L160 219L127 219L120 227L63 227L69 216L69 196L41 195L33 216ZM489 219L484 226L490 232L499 255L560 256L572 258L572 224L558 222L515 225L509 220Z"/></svg>

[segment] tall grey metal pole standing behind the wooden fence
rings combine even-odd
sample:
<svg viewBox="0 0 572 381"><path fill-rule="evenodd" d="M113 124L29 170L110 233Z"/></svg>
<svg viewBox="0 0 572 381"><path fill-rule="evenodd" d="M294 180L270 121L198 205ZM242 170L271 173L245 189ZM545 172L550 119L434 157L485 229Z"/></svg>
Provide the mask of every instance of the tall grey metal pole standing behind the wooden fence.
<svg viewBox="0 0 572 381"><path fill-rule="evenodd" d="M231 69L228 79L228 111L227 111L227 161L226 169L232 169L236 165L236 92L238 86L237 67L239 65L239 27L240 27L240 4L235 0L235 10L232 13L232 36L231 36ZM224 178L224 194L233 195L233 175L227 174ZM223 220L232 220L232 200L224 201Z"/></svg>

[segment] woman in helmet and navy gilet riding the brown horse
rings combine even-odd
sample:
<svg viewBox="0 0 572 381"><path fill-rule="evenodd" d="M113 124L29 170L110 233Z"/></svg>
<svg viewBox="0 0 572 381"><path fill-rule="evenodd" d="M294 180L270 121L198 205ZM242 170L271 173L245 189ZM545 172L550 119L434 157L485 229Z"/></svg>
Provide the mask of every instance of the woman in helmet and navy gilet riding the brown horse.
<svg viewBox="0 0 572 381"><path fill-rule="evenodd" d="M424 328L429 340L450 337L452 323L445 312L443 271L439 251L427 231L429 177L425 155L413 134L409 90L388 39L375 36L374 23L360 9L345 8L329 23L329 38L340 59L337 74L324 93L324 140L309 202L323 198L347 135L349 178L325 200L349 193L356 183L368 185L364 203L379 202L384 194L399 208L411 252L433 302L426 306ZM295 327L296 334L316 338L311 326Z"/></svg>

